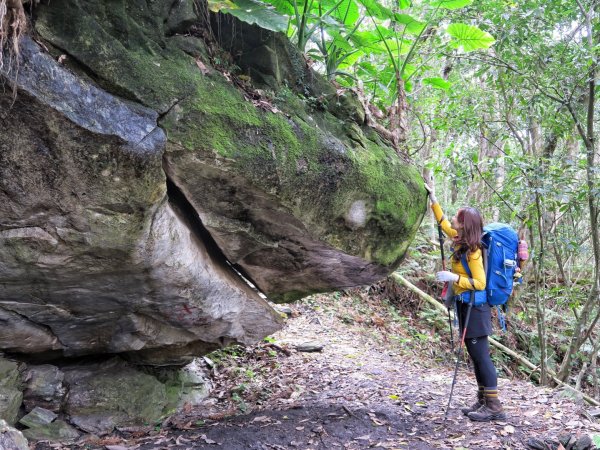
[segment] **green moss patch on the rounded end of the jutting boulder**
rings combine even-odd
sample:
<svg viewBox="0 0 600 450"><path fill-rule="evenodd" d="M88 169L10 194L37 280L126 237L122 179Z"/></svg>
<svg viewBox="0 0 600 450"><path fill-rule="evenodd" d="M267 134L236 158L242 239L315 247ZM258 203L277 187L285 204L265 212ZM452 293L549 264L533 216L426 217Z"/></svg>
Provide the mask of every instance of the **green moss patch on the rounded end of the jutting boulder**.
<svg viewBox="0 0 600 450"><path fill-rule="evenodd" d="M210 85L211 98L200 92L161 122L171 141L219 155L230 170L277 194L332 246L397 264L425 209L414 168L362 132L349 139L344 123L326 112L288 118L255 109L223 81ZM351 147L356 140L359 145ZM349 235L344 216L357 199L370 205L369 225Z"/></svg>

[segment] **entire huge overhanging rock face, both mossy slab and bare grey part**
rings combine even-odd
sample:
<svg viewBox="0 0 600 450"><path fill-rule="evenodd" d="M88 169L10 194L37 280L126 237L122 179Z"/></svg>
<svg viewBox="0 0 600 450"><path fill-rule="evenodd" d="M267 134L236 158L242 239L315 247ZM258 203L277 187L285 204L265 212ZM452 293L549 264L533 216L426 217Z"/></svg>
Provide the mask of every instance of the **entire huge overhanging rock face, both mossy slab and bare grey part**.
<svg viewBox="0 0 600 450"><path fill-rule="evenodd" d="M287 301L401 261L417 171L285 38L212 33L193 6L36 7L48 52L24 38L0 72L17 87L0 93L0 350L182 364L279 328L240 274ZM211 65L222 50L195 37L210 34L272 101Z"/></svg>

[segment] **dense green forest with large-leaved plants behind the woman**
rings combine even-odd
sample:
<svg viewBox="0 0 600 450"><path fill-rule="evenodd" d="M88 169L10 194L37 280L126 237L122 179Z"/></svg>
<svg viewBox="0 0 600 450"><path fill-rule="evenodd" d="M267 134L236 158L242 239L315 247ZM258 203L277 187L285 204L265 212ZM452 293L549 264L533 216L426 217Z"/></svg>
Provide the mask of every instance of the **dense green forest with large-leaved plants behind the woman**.
<svg viewBox="0 0 600 450"><path fill-rule="evenodd" d="M475 205L530 245L511 337L541 384L600 399L599 2L210 1L287 33L355 91L366 120L423 168L452 213ZM318 104L321 99L314 99ZM425 234L436 240L433 221ZM438 249L439 251L439 249Z"/></svg>

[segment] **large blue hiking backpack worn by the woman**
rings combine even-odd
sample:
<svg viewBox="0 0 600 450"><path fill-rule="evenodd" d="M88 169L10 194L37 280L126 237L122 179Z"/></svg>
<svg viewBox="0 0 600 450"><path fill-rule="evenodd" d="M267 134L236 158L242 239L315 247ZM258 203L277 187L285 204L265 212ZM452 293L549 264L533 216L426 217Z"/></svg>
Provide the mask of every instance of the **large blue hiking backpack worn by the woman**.
<svg viewBox="0 0 600 450"><path fill-rule="evenodd" d="M510 225L494 222L483 227L481 245L486 277L485 298L488 304L497 307L500 326L506 330L506 318L502 309L506 309L504 305L513 291L513 277L519 264L517 259L519 236ZM463 257L461 262L471 277L466 257ZM476 291L475 294L477 292L482 291ZM463 301L468 300L465 298ZM475 306L483 303L484 301L478 302L476 296Z"/></svg>

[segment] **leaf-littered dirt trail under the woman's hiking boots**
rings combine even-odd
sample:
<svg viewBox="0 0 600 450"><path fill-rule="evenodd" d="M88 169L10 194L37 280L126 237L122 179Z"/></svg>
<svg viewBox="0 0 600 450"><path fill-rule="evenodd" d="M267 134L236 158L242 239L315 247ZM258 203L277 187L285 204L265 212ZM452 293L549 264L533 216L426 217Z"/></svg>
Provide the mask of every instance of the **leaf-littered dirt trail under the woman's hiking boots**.
<svg viewBox="0 0 600 450"><path fill-rule="evenodd" d="M555 390L502 378L508 419L471 422L459 410L474 398L474 378L466 368L444 422L451 366L411 356L409 344L383 342L385 329L348 326L339 312L306 303L293 308L296 317L274 336L275 343L234 356L240 367L235 372L216 370L214 397L205 405L187 408L150 433L129 430L52 448L525 449L532 437L600 433L590 407ZM309 341L323 350L286 350Z"/></svg>

